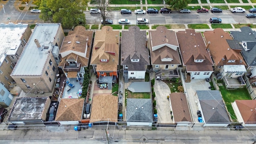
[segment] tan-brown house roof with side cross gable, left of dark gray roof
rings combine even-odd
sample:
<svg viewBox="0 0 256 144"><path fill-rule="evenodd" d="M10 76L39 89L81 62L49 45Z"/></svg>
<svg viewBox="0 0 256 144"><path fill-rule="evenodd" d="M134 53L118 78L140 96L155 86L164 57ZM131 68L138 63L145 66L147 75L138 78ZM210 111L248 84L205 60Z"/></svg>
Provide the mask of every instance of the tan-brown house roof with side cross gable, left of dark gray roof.
<svg viewBox="0 0 256 144"><path fill-rule="evenodd" d="M108 62L100 62L107 59ZM111 26L103 26L94 37L91 64L97 65L97 71L116 71L119 60L119 31Z"/></svg>

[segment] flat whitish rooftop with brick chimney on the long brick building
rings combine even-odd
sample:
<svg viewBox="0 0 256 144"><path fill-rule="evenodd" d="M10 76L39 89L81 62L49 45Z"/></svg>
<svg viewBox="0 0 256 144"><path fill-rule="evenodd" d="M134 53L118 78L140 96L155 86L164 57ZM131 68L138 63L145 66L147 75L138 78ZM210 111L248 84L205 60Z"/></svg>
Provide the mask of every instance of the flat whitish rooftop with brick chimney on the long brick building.
<svg viewBox="0 0 256 144"><path fill-rule="evenodd" d="M13 76L40 76L46 60L54 46L54 38L60 24L36 24L20 59L18 60ZM41 47L38 48L34 40L37 39ZM48 48L48 49L45 49Z"/></svg>

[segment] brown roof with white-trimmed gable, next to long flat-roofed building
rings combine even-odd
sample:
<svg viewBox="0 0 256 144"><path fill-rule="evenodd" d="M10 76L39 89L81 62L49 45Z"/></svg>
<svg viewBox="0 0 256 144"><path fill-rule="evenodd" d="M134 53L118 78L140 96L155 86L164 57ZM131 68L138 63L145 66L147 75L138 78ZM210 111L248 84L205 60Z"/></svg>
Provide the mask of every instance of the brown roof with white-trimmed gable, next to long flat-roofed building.
<svg viewBox="0 0 256 144"><path fill-rule="evenodd" d="M64 66L66 60L73 58L77 58L81 66L88 66L92 36L93 31L87 31L84 26L76 26L73 31L69 31L60 48L62 58L58 66Z"/></svg>

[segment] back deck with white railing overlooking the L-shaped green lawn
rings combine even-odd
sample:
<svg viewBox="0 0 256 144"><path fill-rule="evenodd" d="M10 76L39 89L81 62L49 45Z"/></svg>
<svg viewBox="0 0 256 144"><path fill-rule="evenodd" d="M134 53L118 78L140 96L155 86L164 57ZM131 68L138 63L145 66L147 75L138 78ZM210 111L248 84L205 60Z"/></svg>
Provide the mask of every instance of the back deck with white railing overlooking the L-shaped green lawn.
<svg viewBox="0 0 256 144"><path fill-rule="evenodd" d="M224 77L223 80L228 89L243 88L246 85L242 76L238 78Z"/></svg>

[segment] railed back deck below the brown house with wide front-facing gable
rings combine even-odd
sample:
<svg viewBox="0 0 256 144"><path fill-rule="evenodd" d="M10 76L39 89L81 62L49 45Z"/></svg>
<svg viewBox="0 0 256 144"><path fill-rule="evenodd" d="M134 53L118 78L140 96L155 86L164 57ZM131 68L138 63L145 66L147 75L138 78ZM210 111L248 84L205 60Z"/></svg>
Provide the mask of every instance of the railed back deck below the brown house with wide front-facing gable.
<svg viewBox="0 0 256 144"><path fill-rule="evenodd" d="M162 80L169 80L172 78L180 78L179 72L177 69L175 70L159 70L156 72L156 78L160 76Z"/></svg>

